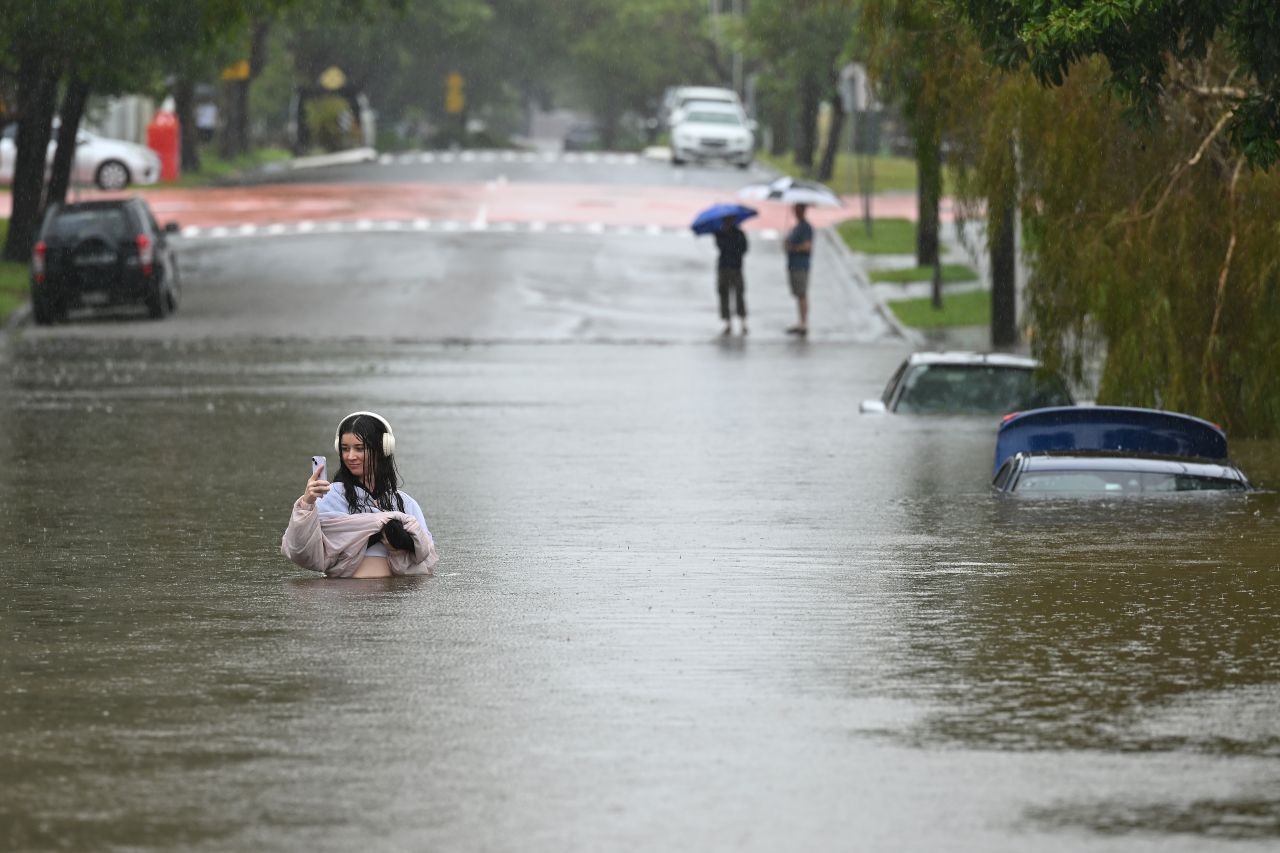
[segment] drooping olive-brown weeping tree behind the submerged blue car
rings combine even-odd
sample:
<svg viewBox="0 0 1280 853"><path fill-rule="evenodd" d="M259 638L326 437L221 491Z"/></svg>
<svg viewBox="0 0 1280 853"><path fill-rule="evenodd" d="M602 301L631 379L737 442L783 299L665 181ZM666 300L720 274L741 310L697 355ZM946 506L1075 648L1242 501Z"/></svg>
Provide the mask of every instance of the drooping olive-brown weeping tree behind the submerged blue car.
<svg viewBox="0 0 1280 853"><path fill-rule="evenodd" d="M1224 97L1263 96L1265 87L1229 31L1217 31L1202 50L1162 54L1160 91L1148 120L1135 123L1137 101L1116 74L1137 55L1124 38L1155 37L1140 24L1112 29L1119 41L1105 55L1080 55L1048 87L1029 63L1004 61L1024 72L983 102L988 199L996 164L1010 160L1007 140L1018 141L1033 351L1078 379L1096 378L1100 402L1280 434L1280 389L1258 369L1280 356L1280 175L1249 168L1266 161L1266 145L1229 132L1248 100Z"/></svg>

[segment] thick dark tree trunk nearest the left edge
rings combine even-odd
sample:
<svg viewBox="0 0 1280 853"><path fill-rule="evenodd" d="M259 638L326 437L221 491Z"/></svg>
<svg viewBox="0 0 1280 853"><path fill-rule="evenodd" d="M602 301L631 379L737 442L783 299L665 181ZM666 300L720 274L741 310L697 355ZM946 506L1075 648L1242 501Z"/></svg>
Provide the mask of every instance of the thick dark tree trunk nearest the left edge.
<svg viewBox="0 0 1280 853"><path fill-rule="evenodd" d="M45 192L49 132L58 106L58 69L38 54L18 64L18 140L13 169L9 237L4 260L26 264L36 243Z"/></svg>

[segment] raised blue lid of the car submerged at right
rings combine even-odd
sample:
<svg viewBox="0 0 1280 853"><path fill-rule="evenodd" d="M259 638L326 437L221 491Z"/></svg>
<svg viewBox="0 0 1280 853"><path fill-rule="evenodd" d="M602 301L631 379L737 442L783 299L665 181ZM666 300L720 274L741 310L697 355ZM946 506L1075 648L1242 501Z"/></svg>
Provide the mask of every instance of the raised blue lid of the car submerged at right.
<svg viewBox="0 0 1280 853"><path fill-rule="evenodd" d="M992 474L1015 453L1101 452L1226 460L1226 433L1201 418L1132 406L1055 406L1015 412L996 432Z"/></svg>

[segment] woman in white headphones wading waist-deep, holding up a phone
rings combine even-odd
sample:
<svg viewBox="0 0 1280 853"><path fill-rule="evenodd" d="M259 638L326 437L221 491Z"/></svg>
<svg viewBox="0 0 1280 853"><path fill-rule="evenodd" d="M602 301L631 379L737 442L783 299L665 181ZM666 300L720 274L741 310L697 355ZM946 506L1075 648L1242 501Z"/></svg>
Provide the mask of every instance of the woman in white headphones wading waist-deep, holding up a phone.
<svg viewBox="0 0 1280 853"><path fill-rule="evenodd" d="M439 561L417 501L399 491L396 437L381 415L357 411L334 435L338 474L316 467L293 505L280 553L329 578L426 575Z"/></svg>

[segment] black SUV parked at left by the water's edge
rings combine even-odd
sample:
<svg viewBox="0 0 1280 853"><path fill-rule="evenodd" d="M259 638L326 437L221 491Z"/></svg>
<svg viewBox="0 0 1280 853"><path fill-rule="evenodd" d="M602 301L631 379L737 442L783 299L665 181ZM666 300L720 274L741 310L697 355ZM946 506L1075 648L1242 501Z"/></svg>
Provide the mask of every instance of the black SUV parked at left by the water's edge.
<svg viewBox="0 0 1280 853"><path fill-rule="evenodd" d="M51 205L31 256L31 309L42 325L81 306L142 302L154 318L178 307L177 223L156 224L142 199Z"/></svg>

